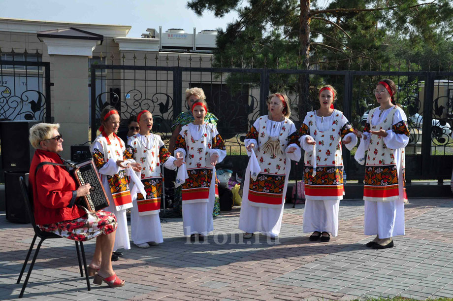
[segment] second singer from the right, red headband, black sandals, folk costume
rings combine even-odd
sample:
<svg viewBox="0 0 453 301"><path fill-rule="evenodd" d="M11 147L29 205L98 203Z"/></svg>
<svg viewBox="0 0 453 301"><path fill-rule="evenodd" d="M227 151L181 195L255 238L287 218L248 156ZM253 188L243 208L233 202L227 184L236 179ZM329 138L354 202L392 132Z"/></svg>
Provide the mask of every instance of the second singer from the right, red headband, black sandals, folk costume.
<svg viewBox="0 0 453 301"><path fill-rule="evenodd" d="M304 233L310 240L329 241L338 234L338 209L343 199L341 144L351 150L357 143L352 126L342 112L333 108L337 92L326 85L320 89L320 109L308 112L298 134L305 150Z"/></svg>

